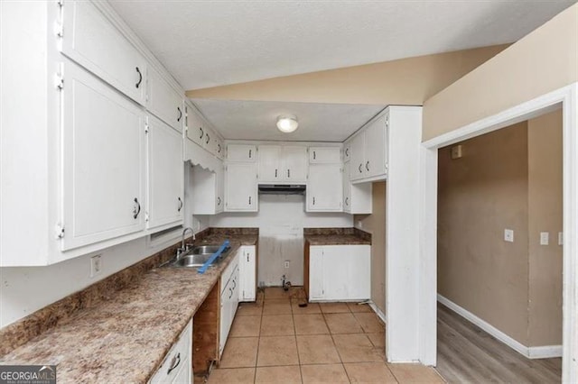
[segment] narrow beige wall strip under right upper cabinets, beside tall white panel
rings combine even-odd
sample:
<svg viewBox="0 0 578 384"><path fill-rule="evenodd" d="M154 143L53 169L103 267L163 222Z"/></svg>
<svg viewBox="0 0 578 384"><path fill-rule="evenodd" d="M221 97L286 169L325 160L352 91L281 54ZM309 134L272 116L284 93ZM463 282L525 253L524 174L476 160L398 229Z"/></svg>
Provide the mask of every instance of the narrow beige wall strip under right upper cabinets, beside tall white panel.
<svg viewBox="0 0 578 384"><path fill-rule="evenodd" d="M386 313L386 193L387 183L373 183L373 214L354 215L355 226L371 236L371 301ZM361 222L361 225L358 225Z"/></svg>

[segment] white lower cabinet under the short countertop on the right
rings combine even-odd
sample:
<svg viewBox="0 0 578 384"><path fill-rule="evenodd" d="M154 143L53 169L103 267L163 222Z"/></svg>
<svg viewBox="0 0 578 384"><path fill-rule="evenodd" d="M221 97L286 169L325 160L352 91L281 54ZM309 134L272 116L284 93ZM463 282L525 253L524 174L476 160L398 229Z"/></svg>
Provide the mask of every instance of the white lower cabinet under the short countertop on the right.
<svg viewBox="0 0 578 384"><path fill-rule="evenodd" d="M309 300L368 300L370 245L314 245L309 249Z"/></svg>

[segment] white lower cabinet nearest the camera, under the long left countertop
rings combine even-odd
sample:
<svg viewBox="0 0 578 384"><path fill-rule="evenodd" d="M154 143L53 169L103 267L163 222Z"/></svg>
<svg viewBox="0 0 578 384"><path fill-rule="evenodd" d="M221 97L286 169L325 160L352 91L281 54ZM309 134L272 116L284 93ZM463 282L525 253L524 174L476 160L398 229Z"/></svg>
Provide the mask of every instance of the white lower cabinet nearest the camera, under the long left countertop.
<svg viewBox="0 0 578 384"><path fill-rule="evenodd" d="M164 357L163 364L148 381L150 384L191 383L192 372L192 320L182 331L179 340Z"/></svg>

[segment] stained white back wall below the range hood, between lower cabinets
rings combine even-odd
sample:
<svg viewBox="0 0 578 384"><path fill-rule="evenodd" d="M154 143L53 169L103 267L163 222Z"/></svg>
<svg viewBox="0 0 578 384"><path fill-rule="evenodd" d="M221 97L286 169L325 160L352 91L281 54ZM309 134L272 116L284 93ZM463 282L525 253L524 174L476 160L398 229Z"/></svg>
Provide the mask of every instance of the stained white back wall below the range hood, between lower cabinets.
<svg viewBox="0 0 578 384"><path fill-rule="evenodd" d="M211 227L258 227L257 283L280 286L286 275L303 285L303 228L351 227L353 215L305 212L301 195L259 195L259 212L223 213L210 217ZM289 261L289 269L284 269Z"/></svg>

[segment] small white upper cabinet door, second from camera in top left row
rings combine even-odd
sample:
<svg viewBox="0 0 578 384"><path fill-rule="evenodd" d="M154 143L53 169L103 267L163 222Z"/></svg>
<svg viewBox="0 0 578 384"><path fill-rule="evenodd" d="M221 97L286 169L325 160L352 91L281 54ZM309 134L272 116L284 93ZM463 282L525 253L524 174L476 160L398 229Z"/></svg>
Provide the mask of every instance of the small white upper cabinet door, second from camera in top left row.
<svg viewBox="0 0 578 384"><path fill-rule="evenodd" d="M182 132L185 110L182 96L167 84L156 69L148 70L148 96L146 109L156 117Z"/></svg>

